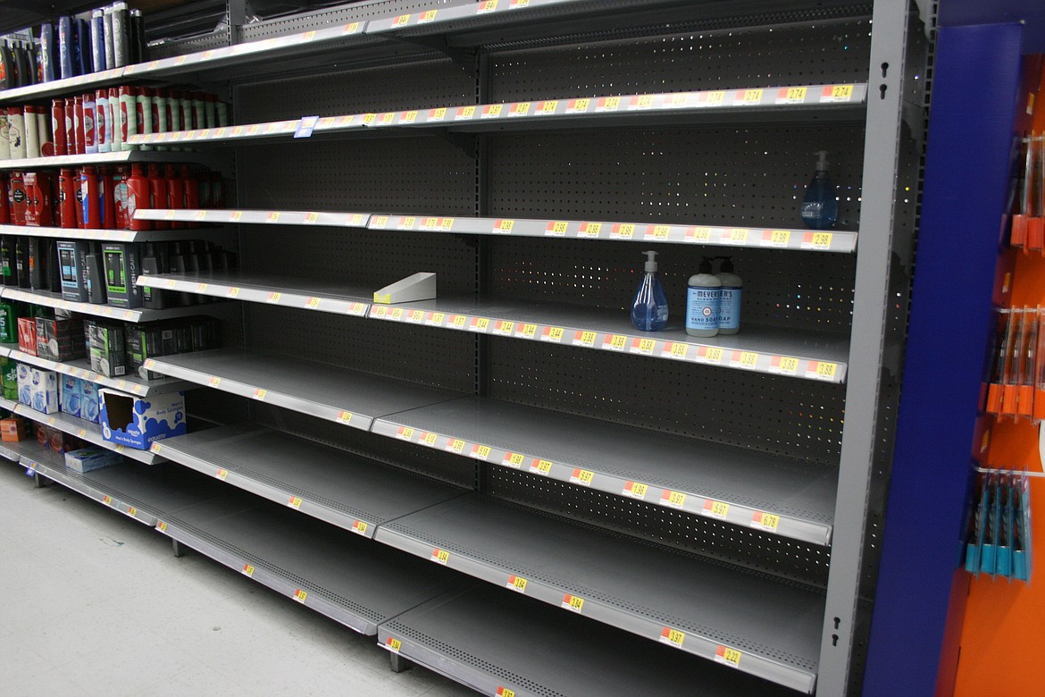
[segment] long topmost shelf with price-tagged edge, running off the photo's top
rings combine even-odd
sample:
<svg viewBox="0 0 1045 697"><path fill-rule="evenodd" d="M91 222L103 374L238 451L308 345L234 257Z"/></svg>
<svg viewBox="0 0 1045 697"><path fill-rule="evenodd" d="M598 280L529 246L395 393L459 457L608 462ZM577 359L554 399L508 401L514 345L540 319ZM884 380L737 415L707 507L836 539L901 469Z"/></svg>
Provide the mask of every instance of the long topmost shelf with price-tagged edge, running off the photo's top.
<svg viewBox="0 0 1045 697"><path fill-rule="evenodd" d="M325 56L354 57L361 61L401 54L413 44L418 52L431 52L426 38L442 37L439 42L451 49L488 43L525 40L533 33L560 34L571 27L640 26L671 21L677 23L707 10L689 0L483 0L458 6L437 6L416 13L390 15L367 22L355 21L336 26L263 39L194 53L134 64L76 77L0 91L0 102L41 98L88 87L112 85L129 77L158 78L214 70L233 72L251 67L271 70L271 61L308 62ZM846 0L832 4L859 5ZM350 55L341 55L348 52ZM307 63L303 64L304 67Z"/></svg>

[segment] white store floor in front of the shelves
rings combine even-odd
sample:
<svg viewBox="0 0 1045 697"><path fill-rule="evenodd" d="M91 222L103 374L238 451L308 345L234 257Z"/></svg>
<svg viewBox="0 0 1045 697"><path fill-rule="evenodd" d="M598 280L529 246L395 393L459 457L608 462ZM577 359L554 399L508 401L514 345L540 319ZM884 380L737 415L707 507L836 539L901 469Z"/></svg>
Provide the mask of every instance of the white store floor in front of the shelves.
<svg viewBox="0 0 1045 697"><path fill-rule="evenodd" d="M0 694L450 697L376 640L0 459Z"/></svg>

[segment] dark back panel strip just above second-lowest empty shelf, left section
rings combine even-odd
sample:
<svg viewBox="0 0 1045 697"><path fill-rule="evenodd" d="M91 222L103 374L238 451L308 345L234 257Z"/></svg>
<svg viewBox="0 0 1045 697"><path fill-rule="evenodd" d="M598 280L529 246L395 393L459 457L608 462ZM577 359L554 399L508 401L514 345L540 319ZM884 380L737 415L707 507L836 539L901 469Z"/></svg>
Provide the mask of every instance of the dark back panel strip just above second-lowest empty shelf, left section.
<svg viewBox="0 0 1045 697"><path fill-rule="evenodd" d="M358 428L346 428L338 423L321 421L255 400L252 402L251 419L270 428L461 487L470 489L475 484L475 464L467 458L375 436Z"/></svg>

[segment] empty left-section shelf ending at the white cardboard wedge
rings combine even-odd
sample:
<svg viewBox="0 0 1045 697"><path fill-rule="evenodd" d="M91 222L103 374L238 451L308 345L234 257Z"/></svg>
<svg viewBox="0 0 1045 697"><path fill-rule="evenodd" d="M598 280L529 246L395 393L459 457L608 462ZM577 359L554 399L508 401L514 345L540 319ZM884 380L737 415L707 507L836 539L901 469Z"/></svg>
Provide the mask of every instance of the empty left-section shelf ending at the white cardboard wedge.
<svg viewBox="0 0 1045 697"><path fill-rule="evenodd" d="M142 275L138 277L137 284L353 317L366 317L374 297L373 288L369 287L345 287L316 280L252 276L238 271Z"/></svg>

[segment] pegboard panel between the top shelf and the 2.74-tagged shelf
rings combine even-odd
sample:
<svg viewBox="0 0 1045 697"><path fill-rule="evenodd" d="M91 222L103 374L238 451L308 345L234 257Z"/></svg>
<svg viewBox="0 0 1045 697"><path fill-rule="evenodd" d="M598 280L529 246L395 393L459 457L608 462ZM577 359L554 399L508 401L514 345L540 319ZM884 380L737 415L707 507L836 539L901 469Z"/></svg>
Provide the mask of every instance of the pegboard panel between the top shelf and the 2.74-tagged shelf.
<svg viewBox="0 0 1045 697"><path fill-rule="evenodd" d="M870 21L688 31L491 59L493 101L863 83Z"/></svg>

